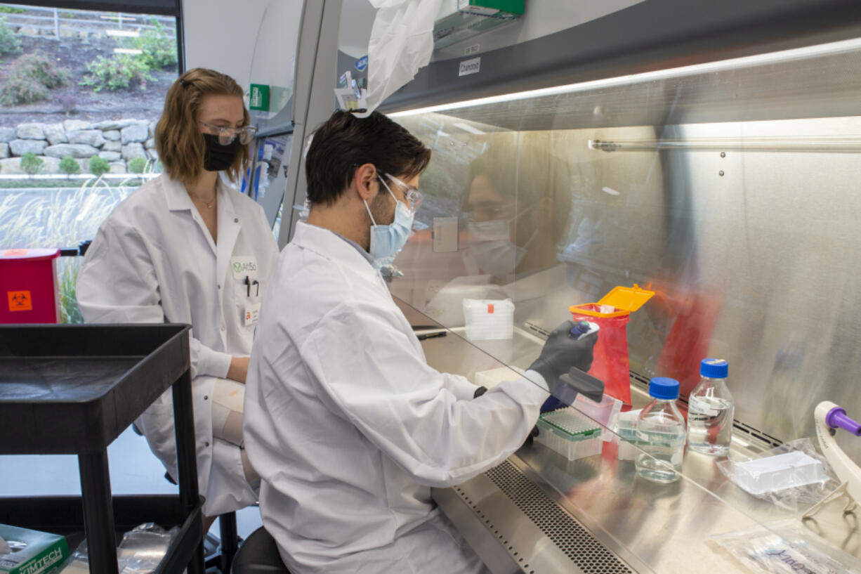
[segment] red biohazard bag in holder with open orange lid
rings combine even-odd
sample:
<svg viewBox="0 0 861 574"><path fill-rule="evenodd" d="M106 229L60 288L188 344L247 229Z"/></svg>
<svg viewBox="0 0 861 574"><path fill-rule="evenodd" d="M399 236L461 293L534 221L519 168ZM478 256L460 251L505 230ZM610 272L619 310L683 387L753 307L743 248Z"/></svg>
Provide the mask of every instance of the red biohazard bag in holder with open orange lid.
<svg viewBox="0 0 861 574"><path fill-rule="evenodd" d="M598 303L584 303L568 308L574 321L598 325L598 342L592 352L589 374L604 381L604 394L631 403L631 374L628 360L628 321L654 291L634 287L616 287Z"/></svg>

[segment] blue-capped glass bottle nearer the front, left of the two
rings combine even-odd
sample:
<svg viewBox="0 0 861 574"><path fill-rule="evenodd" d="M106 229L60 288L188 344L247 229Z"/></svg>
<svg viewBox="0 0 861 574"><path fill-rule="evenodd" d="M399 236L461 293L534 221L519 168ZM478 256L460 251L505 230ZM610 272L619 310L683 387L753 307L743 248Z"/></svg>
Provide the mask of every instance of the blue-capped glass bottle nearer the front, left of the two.
<svg viewBox="0 0 861 574"><path fill-rule="evenodd" d="M684 417L678 411L678 381L654 377L652 397L637 419L637 474L656 483L672 483L681 476L684 459Z"/></svg>

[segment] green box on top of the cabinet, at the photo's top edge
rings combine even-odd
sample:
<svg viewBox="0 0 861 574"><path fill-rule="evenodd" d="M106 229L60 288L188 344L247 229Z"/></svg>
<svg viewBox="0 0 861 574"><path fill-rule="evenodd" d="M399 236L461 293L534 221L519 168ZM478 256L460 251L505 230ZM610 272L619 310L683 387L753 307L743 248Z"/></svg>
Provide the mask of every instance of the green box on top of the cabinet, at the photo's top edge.
<svg viewBox="0 0 861 574"><path fill-rule="evenodd" d="M441 48L523 16L525 0L443 0L433 27Z"/></svg>

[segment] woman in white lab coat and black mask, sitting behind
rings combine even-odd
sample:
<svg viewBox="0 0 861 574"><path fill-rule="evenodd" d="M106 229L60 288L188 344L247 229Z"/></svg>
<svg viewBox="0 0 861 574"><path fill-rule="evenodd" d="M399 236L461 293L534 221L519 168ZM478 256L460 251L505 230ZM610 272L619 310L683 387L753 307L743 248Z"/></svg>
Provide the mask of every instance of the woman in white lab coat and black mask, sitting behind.
<svg viewBox="0 0 861 574"><path fill-rule="evenodd" d="M228 386L223 379L245 384L260 301L278 256L263 209L219 175L235 181L249 162L254 128L242 98L242 88L218 72L198 68L177 79L155 134L164 174L102 223L77 279L87 322L191 325L197 468L209 523L257 501L259 480L242 441L214 436L212 403ZM244 386L233 387L244 395ZM136 424L176 479L170 390Z"/></svg>

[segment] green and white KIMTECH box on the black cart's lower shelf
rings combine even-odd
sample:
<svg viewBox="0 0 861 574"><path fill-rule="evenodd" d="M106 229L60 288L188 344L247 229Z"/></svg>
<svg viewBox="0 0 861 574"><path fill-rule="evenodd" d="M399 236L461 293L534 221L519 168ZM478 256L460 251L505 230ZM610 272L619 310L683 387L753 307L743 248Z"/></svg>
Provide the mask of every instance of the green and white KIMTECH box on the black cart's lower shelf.
<svg viewBox="0 0 861 574"><path fill-rule="evenodd" d="M69 558L65 536L0 524L0 538L9 546L0 554L2 574L54 574Z"/></svg>

